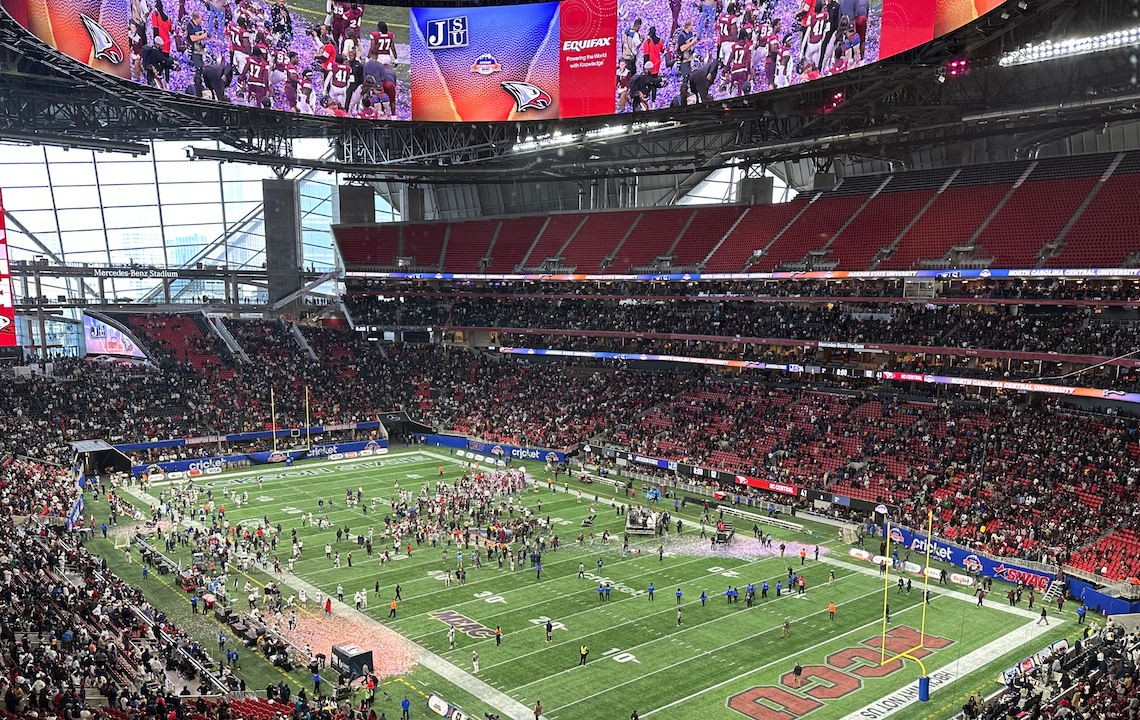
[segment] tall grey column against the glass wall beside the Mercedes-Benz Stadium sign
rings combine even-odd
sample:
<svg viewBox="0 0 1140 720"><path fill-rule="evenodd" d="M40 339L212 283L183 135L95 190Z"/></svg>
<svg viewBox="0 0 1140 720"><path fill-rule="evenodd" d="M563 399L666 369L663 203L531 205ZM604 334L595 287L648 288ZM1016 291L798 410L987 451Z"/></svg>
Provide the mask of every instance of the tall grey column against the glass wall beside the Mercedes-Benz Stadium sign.
<svg viewBox="0 0 1140 720"><path fill-rule="evenodd" d="M262 180L264 207L266 275L269 303L301 288L301 183L296 180ZM301 302L301 300L298 300ZM290 312L280 308L278 312Z"/></svg>

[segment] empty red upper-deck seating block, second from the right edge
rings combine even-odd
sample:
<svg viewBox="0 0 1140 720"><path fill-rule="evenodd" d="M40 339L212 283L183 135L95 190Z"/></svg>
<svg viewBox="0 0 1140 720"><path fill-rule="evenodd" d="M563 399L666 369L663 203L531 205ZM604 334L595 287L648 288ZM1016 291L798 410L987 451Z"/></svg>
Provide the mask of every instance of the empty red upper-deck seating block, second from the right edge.
<svg viewBox="0 0 1140 720"><path fill-rule="evenodd" d="M1092 178L1024 183L978 236L975 257L993 257L991 268L1034 267L1037 251L1057 237L1094 183Z"/></svg>

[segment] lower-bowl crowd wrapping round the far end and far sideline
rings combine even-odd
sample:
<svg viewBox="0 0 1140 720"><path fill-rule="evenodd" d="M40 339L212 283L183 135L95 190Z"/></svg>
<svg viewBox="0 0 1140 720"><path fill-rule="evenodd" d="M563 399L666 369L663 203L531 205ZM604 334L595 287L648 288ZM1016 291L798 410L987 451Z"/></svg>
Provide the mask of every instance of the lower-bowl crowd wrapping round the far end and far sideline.
<svg viewBox="0 0 1140 720"><path fill-rule="evenodd" d="M700 367L535 362L304 328L314 360L287 325L226 326L253 362L195 366L160 346L156 367L60 361L51 377L13 378L0 390L2 449L70 465L71 440L264 429L274 409L278 426L294 427L404 409L438 431L526 447L571 449L602 435L645 455L888 502L915 521L934 506L945 537L1024 558L1064 558L1137 510L1137 422L1126 417L1025 399L911 402L865 377L781 388L765 383L796 378L749 385ZM136 461L254 449L195 445Z"/></svg>

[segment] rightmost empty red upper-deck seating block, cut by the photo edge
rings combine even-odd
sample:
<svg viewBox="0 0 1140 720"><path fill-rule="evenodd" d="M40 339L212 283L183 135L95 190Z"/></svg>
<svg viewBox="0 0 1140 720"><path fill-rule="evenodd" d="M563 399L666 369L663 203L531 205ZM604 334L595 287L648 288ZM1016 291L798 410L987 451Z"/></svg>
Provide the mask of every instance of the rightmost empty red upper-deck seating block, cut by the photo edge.
<svg viewBox="0 0 1140 720"><path fill-rule="evenodd" d="M1140 174L1109 178L1065 236L1049 268L1119 268L1140 251Z"/></svg>

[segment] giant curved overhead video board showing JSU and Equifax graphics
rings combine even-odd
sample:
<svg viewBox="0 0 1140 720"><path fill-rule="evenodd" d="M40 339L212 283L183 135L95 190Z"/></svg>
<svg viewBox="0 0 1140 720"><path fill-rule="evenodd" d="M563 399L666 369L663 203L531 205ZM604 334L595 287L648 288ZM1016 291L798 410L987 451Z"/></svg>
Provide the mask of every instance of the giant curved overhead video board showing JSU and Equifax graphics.
<svg viewBox="0 0 1140 720"><path fill-rule="evenodd" d="M364 120L526 121L707 103L897 55L1000 0L0 0L92 67L173 92Z"/></svg>

